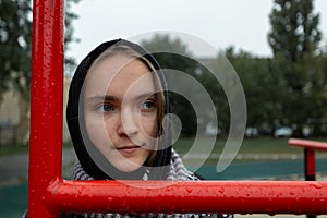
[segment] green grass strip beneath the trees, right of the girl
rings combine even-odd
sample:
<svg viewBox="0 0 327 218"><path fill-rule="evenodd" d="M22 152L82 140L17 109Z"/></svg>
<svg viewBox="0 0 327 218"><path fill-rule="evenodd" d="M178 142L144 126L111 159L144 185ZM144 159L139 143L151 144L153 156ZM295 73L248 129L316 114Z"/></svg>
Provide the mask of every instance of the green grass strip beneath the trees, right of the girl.
<svg viewBox="0 0 327 218"><path fill-rule="evenodd" d="M327 138L312 138L317 141L325 141ZM184 162L194 164L201 162L206 159L206 164L216 164L218 159L220 159L220 154L226 147L227 140L226 138L217 138L216 143L213 145L213 138L202 137L198 146L194 145L193 138L180 138L174 144L174 149L184 157ZM211 144L211 147L208 146ZM229 155L234 157L234 150L238 147L234 145L230 145L225 153L225 157L229 159ZM196 150L196 152L191 152ZM190 155L189 158L185 158L185 154ZM199 156L197 154L202 154L204 156ZM274 138L274 137L256 137L256 138L244 138L239 150L237 150L238 158L233 160L233 162L251 162L257 161L257 158L270 158L275 159L277 157L281 157L281 155L288 158L288 156L295 155L296 157L303 157L303 149L300 147L289 146L288 138ZM192 156L193 155L193 156ZM209 158L207 157L209 155ZM195 156L195 157L194 157ZM192 158L193 157L193 158Z"/></svg>

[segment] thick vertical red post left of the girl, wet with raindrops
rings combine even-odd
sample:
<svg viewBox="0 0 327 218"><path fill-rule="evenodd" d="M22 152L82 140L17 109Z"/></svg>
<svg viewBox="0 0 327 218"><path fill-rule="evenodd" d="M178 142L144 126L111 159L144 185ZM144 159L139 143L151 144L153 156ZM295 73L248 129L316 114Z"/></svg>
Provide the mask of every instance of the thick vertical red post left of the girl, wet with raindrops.
<svg viewBox="0 0 327 218"><path fill-rule="evenodd" d="M28 217L56 214L46 205L46 190L61 180L63 5L63 0L33 2Z"/></svg>

